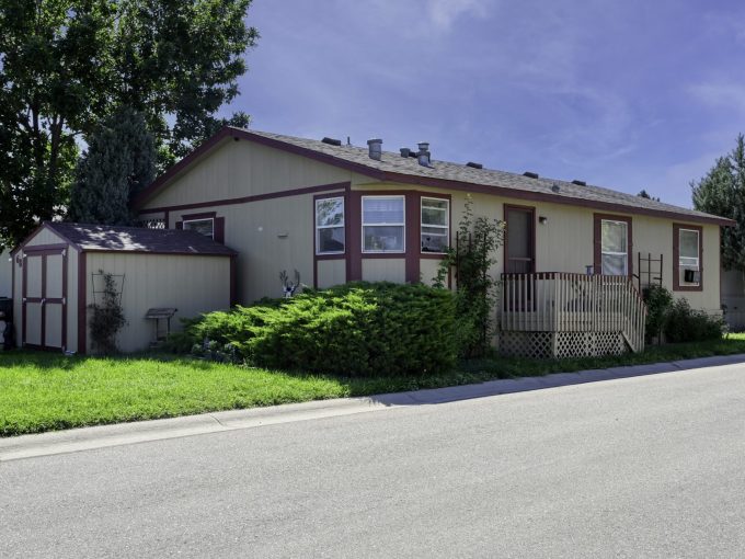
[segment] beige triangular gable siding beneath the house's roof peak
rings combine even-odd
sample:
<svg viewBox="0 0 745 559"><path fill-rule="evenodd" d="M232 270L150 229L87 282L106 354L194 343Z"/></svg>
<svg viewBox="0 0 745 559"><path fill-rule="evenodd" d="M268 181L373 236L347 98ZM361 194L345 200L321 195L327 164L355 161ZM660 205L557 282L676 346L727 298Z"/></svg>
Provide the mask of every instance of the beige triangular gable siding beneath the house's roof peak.
<svg viewBox="0 0 745 559"><path fill-rule="evenodd" d="M251 141L228 140L150 199L146 208L348 182L351 176L349 171L310 158Z"/></svg>

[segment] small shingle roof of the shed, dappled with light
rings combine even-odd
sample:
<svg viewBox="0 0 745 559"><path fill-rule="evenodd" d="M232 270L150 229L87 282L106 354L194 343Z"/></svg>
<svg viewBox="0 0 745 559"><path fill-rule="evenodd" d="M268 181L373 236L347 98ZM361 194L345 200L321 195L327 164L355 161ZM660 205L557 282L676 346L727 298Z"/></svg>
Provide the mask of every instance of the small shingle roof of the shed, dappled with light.
<svg viewBox="0 0 745 559"><path fill-rule="evenodd" d="M66 223L46 223L45 226L84 252L123 251L226 256L236 254L233 250L195 231Z"/></svg>

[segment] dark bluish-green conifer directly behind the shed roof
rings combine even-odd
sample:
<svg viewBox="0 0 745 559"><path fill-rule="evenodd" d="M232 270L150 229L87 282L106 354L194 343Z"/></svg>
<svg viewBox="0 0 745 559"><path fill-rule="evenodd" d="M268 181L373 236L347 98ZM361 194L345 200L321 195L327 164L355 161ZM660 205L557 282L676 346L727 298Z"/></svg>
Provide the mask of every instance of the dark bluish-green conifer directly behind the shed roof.
<svg viewBox="0 0 745 559"><path fill-rule="evenodd" d="M84 224L130 225L129 203L156 173L156 142L145 117L119 109L87 138L68 217Z"/></svg>

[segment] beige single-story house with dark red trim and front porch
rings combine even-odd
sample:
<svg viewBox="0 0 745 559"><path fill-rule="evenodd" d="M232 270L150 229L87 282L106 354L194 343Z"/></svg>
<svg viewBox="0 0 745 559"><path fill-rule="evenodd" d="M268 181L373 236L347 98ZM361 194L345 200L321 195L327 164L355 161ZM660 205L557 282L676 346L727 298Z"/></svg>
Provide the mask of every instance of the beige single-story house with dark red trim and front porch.
<svg viewBox="0 0 745 559"><path fill-rule="evenodd" d="M399 152L226 127L135 201L145 224L190 229L238 252L237 300L282 295L278 275L326 287L431 282L467 195L506 223L504 351L616 353L643 346L640 289L662 283L720 310L718 216L647 198ZM588 275L589 274L589 275ZM511 350L512 349L512 350Z"/></svg>

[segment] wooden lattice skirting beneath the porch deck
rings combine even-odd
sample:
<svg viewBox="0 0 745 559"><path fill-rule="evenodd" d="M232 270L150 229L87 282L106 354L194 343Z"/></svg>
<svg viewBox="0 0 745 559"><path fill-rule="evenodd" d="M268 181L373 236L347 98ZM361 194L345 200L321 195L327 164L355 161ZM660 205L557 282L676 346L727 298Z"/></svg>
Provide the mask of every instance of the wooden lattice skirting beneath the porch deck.
<svg viewBox="0 0 745 559"><path fill-rule="evenodd" d="M532 358L620 355L627 346L620 332L502 332L503 355Z"/></svg>

